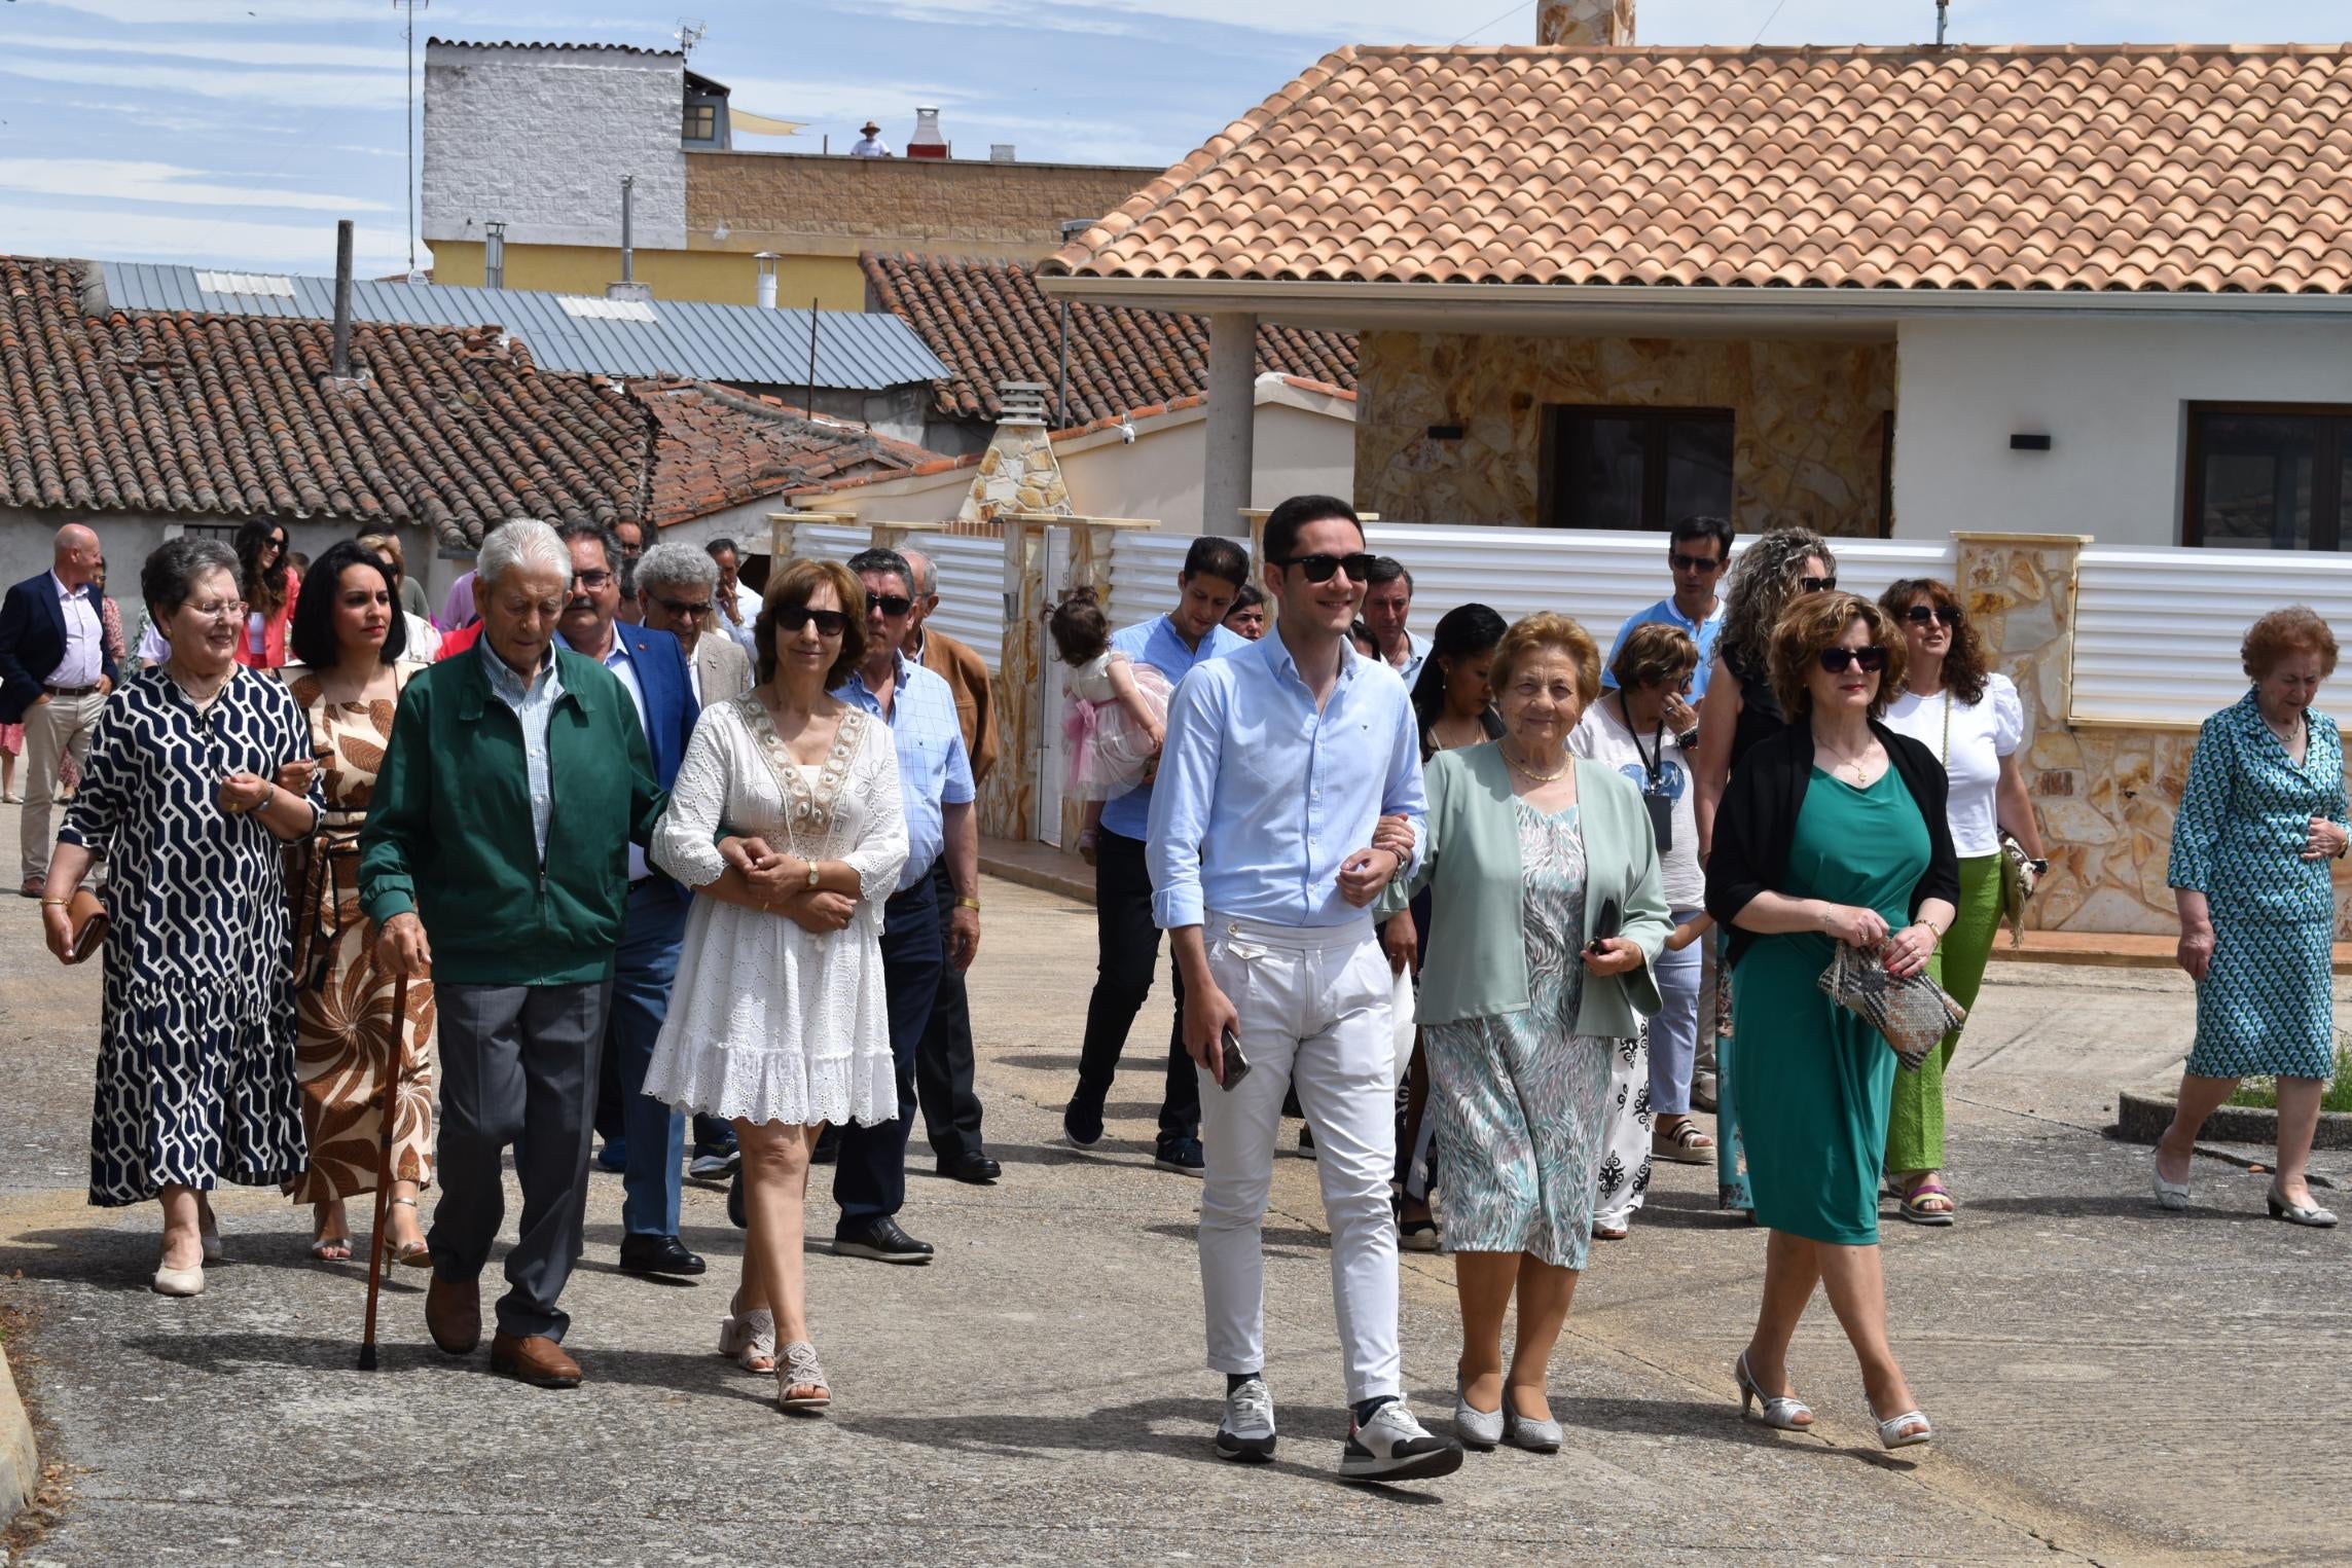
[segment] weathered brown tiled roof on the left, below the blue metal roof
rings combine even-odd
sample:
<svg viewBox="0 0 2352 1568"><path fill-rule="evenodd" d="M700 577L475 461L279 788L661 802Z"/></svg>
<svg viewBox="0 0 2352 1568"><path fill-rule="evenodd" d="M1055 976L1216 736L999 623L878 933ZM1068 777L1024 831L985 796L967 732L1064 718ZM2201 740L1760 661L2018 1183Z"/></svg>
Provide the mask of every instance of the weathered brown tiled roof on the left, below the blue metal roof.
<svg viewBox="0 0 2352 1568"><path fill-rule="evenodd" d="M807 421L795 447L720 388L694 388L691 416L654 407L675 383L541 371L496 329L355 324L367 381L336 388L327 322L80 301L78 263L0 256L0 505L348 517L466 545L496 517L675 522L699 496L934 456Z"/></svg>

